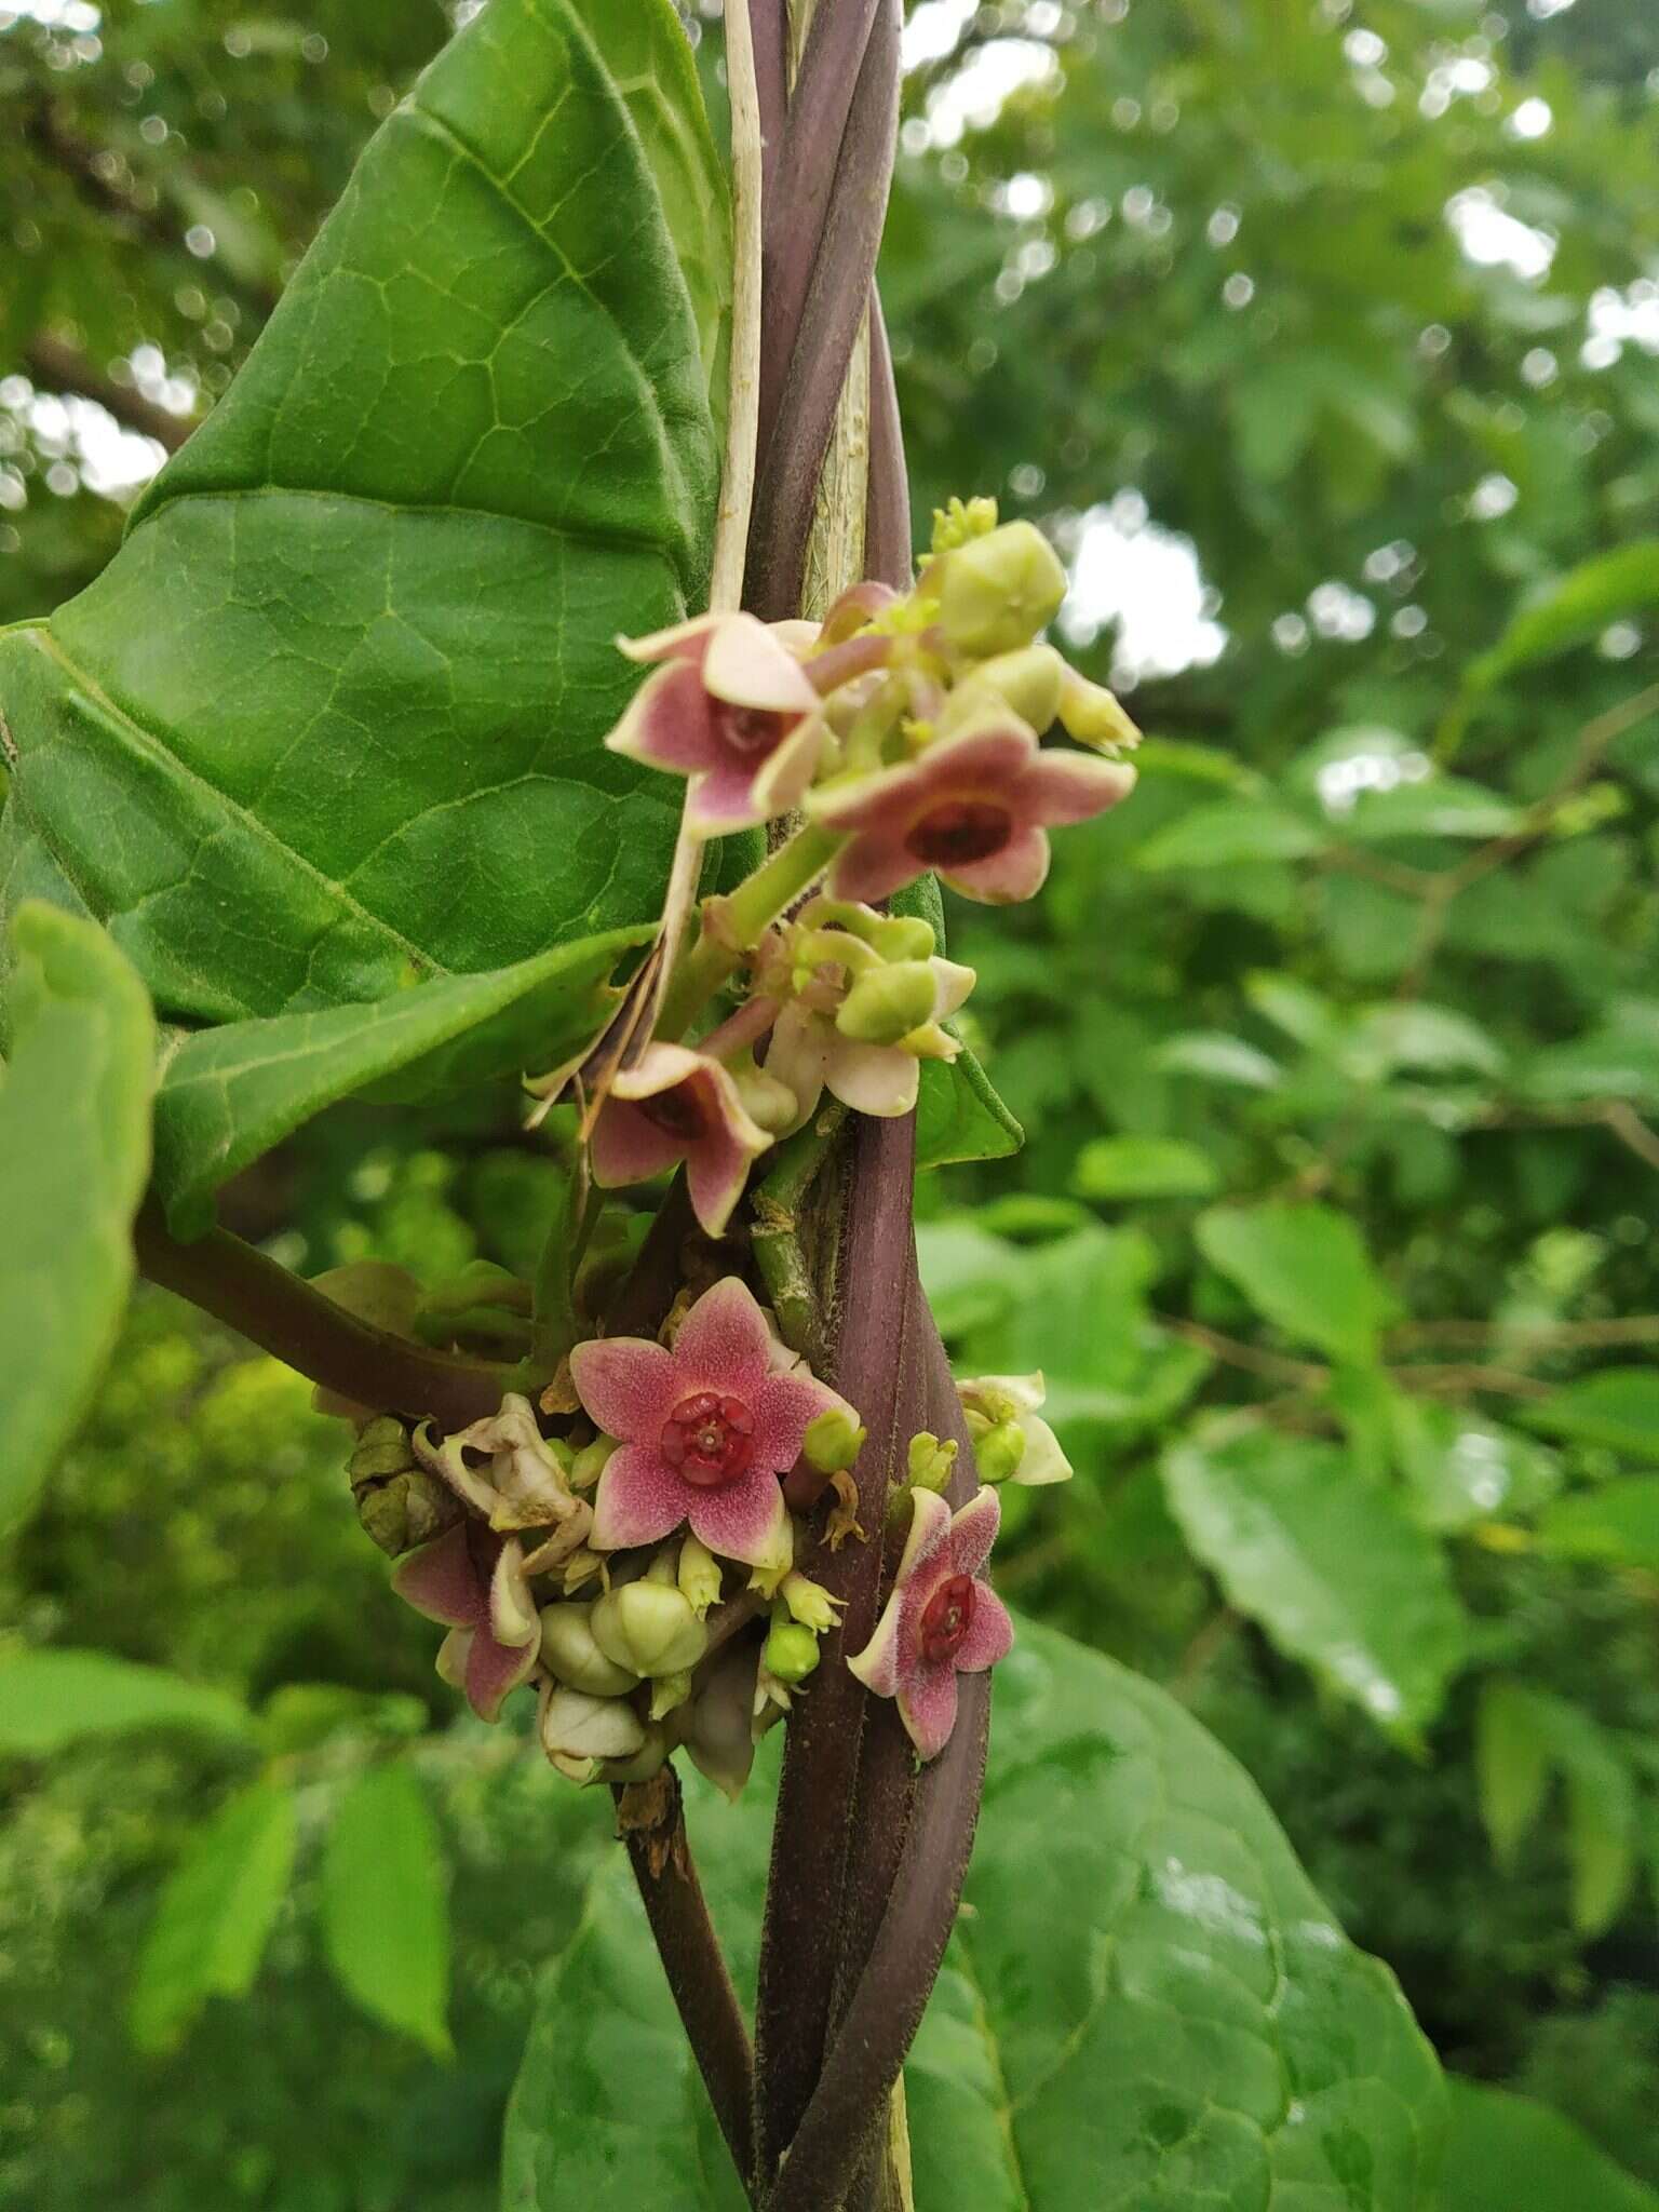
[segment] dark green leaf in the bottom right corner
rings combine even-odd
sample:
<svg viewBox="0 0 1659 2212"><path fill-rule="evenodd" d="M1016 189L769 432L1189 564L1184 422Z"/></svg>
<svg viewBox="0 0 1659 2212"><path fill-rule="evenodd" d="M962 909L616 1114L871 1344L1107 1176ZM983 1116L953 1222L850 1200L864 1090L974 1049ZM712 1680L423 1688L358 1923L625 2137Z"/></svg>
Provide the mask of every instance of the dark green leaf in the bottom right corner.
<svg viewBox="0 0 1659 2212"><path fill-rule="evenodd" d="M1440 2212L1659 2212L1659 2192L1562 2112L1486 2081L1453 2077L1447 2088Z"/></svg>

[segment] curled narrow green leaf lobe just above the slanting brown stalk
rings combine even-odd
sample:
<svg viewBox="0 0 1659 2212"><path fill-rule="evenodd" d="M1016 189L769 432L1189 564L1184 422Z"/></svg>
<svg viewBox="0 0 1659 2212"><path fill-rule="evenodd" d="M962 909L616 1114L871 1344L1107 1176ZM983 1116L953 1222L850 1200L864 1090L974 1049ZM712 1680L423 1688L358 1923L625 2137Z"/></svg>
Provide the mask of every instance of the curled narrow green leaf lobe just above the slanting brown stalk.
<svg viewBox="0 0 1659 2212"><path fill-rule="evenodd" d="M604 982L646 931L560 945L493 975L447 975L367 1006L223 1022L184 1037L155 1102L155 1183L175 1237L212 1223L212 1194L312 1115L403 1071L403 1088L465 1088L557 1066L604 1018ZM447 1048L447 1051L445 1051Z"/></svg>

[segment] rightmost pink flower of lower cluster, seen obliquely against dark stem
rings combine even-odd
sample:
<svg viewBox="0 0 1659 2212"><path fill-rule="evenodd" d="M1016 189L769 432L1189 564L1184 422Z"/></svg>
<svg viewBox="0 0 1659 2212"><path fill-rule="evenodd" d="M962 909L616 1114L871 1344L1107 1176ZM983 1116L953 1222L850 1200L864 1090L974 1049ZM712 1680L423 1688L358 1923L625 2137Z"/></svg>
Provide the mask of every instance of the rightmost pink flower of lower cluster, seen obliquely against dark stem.
<svg viewBox="0 0 1659 2212"><path fill-rule="evenodd" d="M933 1491L911 1491L898 1579L876 1635L847 1666L898 1719L922 1759L938 1759L956 1728L956 1677L982 1674L1013 1644L1013 1621L980 1568L1002 1506L980 1491L956 1513Z"/></svg>

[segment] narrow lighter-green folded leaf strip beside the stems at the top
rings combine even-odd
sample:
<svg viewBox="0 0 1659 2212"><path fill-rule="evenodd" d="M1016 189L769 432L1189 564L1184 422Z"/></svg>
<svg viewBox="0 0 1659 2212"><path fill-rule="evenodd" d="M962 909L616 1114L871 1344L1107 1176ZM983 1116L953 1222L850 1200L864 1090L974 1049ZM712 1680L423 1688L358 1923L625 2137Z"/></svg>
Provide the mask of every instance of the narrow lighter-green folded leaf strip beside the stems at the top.
<svg viewBox="0 0 1659 2212"><path fill-rule="evenodd" d="M657 179L668 234L679 254L703 383L717 422L726 418L726 343L732 312L732 195L708 128L697 62L672 0L588 4L588 35L622 93Z"/></svg>

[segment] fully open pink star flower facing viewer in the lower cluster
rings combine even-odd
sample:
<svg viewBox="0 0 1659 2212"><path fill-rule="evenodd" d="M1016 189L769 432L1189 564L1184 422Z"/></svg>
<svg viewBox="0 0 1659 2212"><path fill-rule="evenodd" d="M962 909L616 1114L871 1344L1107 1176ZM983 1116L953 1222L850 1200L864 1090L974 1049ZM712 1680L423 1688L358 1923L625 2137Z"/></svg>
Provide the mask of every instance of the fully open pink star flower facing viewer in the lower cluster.
<svg viewBox="0 0 1659 2212"><path fill-rule="evenodd" d="M734 1274L692 1305L672 1352L602 1336L575 1347L571 1376L588 1418L622 1438L593 1500L595 1551L655 1544L690 1522L723 1559L761 1566L776 1555L779 1475L841 1400L805 1367L776 1369L765 1314Z"/></svg>

